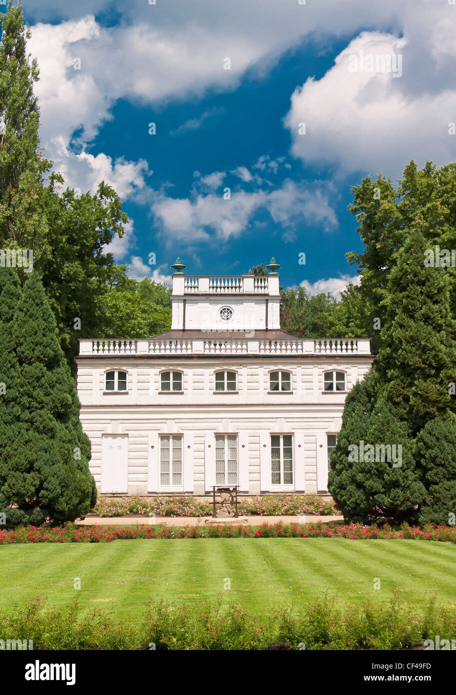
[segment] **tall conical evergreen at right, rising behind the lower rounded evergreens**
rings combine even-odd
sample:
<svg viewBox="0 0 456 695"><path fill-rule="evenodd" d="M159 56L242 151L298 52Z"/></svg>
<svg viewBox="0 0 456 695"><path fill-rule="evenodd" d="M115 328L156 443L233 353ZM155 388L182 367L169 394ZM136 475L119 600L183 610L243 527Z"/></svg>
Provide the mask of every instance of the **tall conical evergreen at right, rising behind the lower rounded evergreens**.
<svg viewBox="0 0 456 695"><path fill-rule="evenodd" d="M449 389L456 365L456 322L444 268L425 266L428 243L412 229L383 293L385 326L375 368L383 397L415 435L432 418L455 407Z"/></svg>

